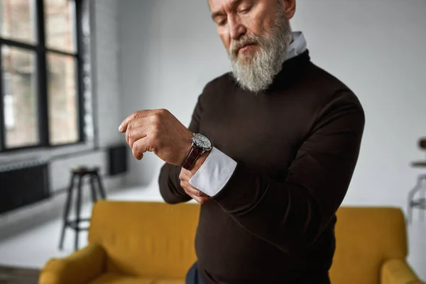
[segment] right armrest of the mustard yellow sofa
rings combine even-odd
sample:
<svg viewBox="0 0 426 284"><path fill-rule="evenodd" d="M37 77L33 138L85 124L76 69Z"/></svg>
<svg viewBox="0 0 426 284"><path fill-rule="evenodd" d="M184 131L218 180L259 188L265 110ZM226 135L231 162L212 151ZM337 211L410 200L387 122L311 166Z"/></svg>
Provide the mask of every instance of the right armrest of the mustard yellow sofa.
<svg viewBox="0 0 426 284"><path fill-rule="evenodd" d="M404 259L389 259L381 268L382 284L424 284Z"/></svg>

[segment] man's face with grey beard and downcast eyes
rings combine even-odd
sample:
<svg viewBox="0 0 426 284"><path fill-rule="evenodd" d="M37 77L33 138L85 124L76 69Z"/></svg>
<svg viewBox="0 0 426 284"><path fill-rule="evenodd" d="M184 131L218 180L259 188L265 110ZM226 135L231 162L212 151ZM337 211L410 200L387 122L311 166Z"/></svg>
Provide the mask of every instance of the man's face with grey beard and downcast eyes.
<svg viewBox="0 0 426 284"><path fill-rule="evenodd" d="M271 84L291 41L295 0L209 0L212 19L244 89Z"/></svg>

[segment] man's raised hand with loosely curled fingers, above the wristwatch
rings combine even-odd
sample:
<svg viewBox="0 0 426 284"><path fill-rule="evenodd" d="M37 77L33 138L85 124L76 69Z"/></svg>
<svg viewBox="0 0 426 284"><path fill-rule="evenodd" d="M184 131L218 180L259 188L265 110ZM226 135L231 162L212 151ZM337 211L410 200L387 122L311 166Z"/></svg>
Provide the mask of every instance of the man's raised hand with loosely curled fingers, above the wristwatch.
<svg viewBox="0 0 426 284"><path fill-rule="evenodd" d="M126 132L133 157L143 158L146 151L172 165L181 165L190 152L192 132L166 109L136 111L120 124Z"/></svg>

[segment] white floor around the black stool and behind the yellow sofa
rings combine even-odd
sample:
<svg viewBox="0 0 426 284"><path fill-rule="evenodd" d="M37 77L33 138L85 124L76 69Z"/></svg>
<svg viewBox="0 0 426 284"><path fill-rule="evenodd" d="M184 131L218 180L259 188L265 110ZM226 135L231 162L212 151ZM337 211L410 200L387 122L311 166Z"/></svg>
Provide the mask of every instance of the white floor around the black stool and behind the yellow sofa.
<svg viewBox="0 0 426 284"><path fill-rule="evenodd" d="M158 188L135 187L109 194L109 200L161 201ZM82 216L89 217L92 204L84 204ZM58 216L35 229L25 231L9 239L0 240L0 267L23 267L40 269L48 259L64 257L72 253L75 234L68 229L63 251L58 249L62 220ZM80 233L80 247L87 244L87 232ZM408 262L416 273L426 280L426 222L415 221L408 226ZM412 244L415 244L412 245ZM1 271L1 270L0 270ZM0 274L1 277L1 274ZM0 284L9 283L1 282ZM15 282L11 282L15 283ZM16 282L19 283L19 282Z"/></svg>

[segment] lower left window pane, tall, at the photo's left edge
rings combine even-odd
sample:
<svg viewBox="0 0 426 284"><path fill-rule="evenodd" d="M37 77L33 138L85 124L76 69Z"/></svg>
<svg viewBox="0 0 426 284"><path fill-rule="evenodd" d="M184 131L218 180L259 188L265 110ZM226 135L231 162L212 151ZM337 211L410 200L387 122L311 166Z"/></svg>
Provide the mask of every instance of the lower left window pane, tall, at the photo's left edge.
<svg viewBox="0 0 426 284"><path fill-rule="evenodd" d="M3 105L6 148L39 143L35 53L3 45Z"/></svg>

